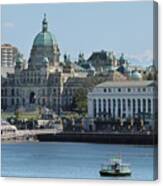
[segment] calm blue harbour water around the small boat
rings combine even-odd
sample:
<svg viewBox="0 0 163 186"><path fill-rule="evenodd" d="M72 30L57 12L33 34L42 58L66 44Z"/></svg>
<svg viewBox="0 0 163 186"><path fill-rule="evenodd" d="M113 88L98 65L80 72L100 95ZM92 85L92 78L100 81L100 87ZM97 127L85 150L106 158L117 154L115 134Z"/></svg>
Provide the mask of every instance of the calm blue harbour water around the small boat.
<svg viewBox="0 0 163 186"><path fill-rule="evenodd" d="M90 179L153 179L152 146L109 145L91 143L23 143L2 144L2 176L90 178ZM101 164L121 153L130 163L128 177L101 177Z"/></svg>

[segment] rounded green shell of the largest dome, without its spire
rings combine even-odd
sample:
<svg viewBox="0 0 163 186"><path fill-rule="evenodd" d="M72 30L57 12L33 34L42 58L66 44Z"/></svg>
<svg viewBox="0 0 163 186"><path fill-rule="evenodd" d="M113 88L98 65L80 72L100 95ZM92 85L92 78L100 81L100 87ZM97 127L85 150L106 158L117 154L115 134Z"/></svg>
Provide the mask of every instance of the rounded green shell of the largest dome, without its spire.
<svg viewBox="0 0 163 186"><path fill-rule="evenodd" d="M34 39L34 46L53 46L57 44L55 37L48 31L40 32Z"/></svg>

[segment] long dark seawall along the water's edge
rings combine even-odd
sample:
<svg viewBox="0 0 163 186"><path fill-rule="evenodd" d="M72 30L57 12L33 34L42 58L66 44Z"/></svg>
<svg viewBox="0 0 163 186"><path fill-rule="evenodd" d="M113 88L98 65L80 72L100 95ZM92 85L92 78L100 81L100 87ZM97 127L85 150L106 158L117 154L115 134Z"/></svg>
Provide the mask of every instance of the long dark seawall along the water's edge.
<svg viewBox="0 0 163 186"><path fill-rule="evenodd" d="M157 144L157 135L147 134L109 134L109 133L58 133L39 134L36 136L39 141L60 141L60 142L87 142L107 144Z"/></svg>

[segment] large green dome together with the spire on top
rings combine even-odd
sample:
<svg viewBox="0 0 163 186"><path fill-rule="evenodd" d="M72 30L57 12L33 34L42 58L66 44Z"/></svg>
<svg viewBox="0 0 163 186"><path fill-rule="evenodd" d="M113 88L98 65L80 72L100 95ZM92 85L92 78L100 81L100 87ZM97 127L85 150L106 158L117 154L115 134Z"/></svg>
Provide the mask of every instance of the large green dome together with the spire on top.
<svg viewBox="0 0 163 186"><path fill-rule="evenodd" d="M44 19L42 21L42 31L35 37L33 46L53 46L55 44L57 44L57 41L53 34L48 32L48 22L46 19L46 14L44 14Z"/></svg>

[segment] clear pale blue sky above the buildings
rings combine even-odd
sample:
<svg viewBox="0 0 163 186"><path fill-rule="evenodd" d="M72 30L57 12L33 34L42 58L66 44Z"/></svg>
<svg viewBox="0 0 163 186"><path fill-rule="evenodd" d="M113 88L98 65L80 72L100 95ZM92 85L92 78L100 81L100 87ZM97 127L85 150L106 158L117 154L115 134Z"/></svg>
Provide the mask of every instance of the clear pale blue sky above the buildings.
<svg viewBox="0 0 163 186"><path fill-rule="evenodd" d="M44 13L62 56L107 50L142 63L152 59L152 1L3 5L1 43L15 45L28 59Z"/></svg>

